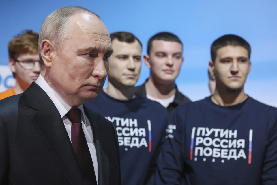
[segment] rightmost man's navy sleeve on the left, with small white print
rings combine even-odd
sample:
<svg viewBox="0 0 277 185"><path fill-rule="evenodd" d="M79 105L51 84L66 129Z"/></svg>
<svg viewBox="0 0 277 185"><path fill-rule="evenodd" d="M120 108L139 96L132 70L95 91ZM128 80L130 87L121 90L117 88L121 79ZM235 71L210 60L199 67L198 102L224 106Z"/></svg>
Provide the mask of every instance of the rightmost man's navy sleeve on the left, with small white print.
<svg viewBox="0 0 277 185"><path fill-rule="evenodd" d="M184 162L181 156L182 121L184 116L179 108L175 110L166 128L165 141L158 157L158 168L155 174L155 184L181 184Z"/></svg>

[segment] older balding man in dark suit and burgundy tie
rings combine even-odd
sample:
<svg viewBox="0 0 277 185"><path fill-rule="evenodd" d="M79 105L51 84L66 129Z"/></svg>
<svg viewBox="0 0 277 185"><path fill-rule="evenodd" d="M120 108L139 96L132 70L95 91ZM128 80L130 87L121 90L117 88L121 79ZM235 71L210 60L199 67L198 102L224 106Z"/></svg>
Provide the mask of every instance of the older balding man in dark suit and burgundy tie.
<svg viewBox="0 0 277 185"><path fill-rule="evenodd" d="M93 12L63 7L39 44L38 80L0 101L0 184L121 184L115 129L83 106L107 76L108 30Z"/></svg>

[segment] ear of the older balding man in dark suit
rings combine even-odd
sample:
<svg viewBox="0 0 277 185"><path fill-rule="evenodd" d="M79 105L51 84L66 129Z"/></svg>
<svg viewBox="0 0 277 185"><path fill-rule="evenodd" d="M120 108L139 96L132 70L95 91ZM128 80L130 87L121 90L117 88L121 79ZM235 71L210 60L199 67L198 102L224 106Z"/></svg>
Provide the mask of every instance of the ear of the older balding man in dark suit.
<svg viewBox="0 0 277 185"><path fill-rule="evenodd" d="M50 40L42 40L40 43L40 56L43 60L43 63L47 67L51 67L53 60L53 51L55 47Z"/></svg>

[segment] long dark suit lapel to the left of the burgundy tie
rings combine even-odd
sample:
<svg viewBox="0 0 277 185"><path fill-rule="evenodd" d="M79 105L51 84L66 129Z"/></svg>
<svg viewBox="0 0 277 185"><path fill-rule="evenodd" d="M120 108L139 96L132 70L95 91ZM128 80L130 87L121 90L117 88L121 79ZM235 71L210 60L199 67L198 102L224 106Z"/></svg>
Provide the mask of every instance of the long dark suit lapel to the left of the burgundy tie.
<svg viewBox="0 0 277 185"><path fill-rule="evenodd" d="M59 111L34 82L23 93L26 104L37 110L32 121L70 184L85 184Z"/></svg>

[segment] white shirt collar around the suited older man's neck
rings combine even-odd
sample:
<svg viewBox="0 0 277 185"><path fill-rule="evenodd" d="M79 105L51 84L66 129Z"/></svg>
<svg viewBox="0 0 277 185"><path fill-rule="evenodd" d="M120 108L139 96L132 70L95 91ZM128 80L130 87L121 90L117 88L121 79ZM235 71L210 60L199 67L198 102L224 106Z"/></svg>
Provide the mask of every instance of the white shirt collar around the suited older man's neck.
<svg viewBox="0 0 277 185"><path fill-rule="evenodd" d="M65 114L67 114L68 111L71 109L69 103L67 103L65 99L63 99L52 87L49 86L49 84L45 81L41 74L39 75L35 83L38 84L46 92L46 94L50 97L50 99L53 101L54 105L58 109L61 118L63 118L63 116L65 116ZM83 105L80 105L78 106L78 108L82 111L82 119L86 125L86 119L84 117L84 107Z"/></svg>

